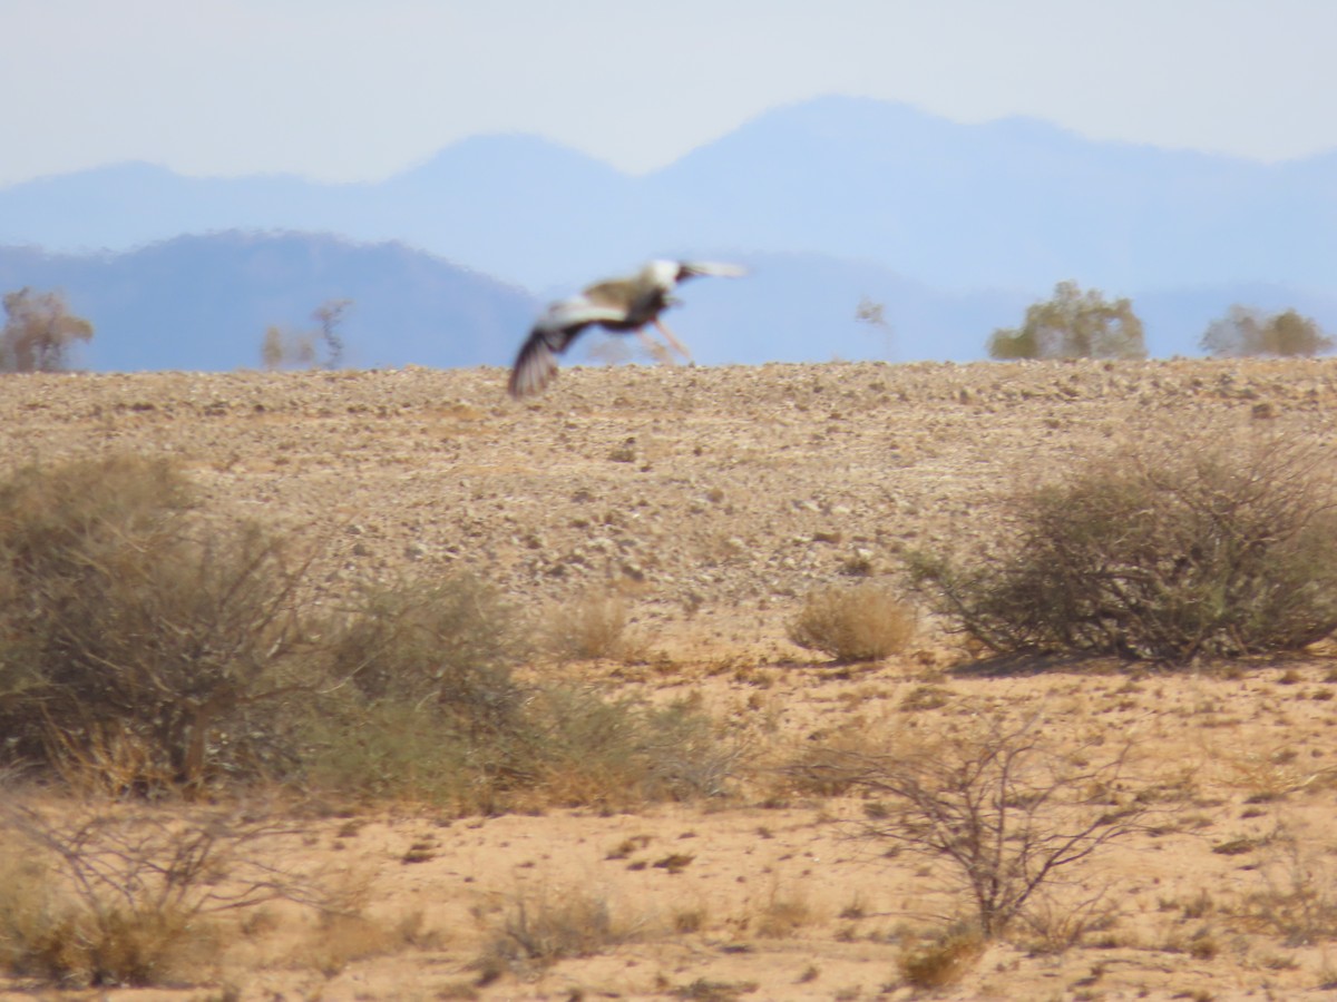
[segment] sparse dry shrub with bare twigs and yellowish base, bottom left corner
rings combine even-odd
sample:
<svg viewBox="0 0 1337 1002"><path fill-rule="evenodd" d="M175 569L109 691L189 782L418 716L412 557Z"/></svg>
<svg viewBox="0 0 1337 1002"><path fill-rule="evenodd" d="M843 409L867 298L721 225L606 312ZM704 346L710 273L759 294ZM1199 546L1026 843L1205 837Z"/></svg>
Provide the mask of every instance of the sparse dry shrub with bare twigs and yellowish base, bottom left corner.
<svg viewBox="0 0 1337 1002"><path fill-rule="evenodd" d="M217 955L221 914L275 899L322 907L317 880L259 862L261 843L281 834L239 810L39 810L11 799L0 815L16 860L0 883L0 962L67 985L189 975Z"/></svg>

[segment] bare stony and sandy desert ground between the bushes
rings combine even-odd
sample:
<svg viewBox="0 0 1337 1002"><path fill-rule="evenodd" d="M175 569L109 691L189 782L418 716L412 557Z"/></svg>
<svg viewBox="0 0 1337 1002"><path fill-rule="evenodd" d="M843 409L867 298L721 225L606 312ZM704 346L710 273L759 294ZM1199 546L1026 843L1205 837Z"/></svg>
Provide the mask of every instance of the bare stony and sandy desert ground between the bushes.
<svg viewBox="0 0 1337 1002"><path fill-rule="evenodd" d="M969 552L1011 492L1143 434L1214 422L1337 461L1337 359L571 367L525 402L504 385L495 369L11 375L0 469L174 457L211 513L309 540L318 601L459 570L536 624L616 596L624 656L536 657L525 671L698 699L746 759L735 791L500 816L294 808L267 858L340 882L356 915L266 911L166 986L12 978L0 997L1337 993L1332 641L1178 669L1046 659L985 671L927 613L904 653L854 665L785 628L812 589L856 570L894 582L910 548ZM789 782L785 764L824 743L953 733L985 713L1039 719L1074 747L1127 745L1128 783L1189 792L1066 868L1047 911L969 955L952 983L924 987L902 961L968 914L963 888L868 836L862 798ZM487 959L517 910L558 904L598 910L611 933L552 962Z"/></svg>

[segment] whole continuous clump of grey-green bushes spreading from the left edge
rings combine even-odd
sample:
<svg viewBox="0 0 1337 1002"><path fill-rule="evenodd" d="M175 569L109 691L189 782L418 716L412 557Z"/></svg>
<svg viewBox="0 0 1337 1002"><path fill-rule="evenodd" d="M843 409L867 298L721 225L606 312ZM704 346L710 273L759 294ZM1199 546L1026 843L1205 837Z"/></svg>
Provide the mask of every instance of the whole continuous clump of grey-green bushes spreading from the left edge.
<svg viewBox="0 0 1337 1002"><path fill-rule="evenodd" d="M469 577L368 588L337 620L170 464L0 484L0 755L106 792L306 778L459 810L718 794L735 752L694 707L524 684L516 611ZM0 764L4 764L0 762Z"/></svg>

